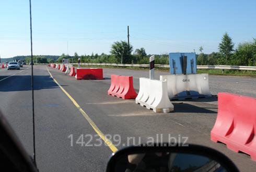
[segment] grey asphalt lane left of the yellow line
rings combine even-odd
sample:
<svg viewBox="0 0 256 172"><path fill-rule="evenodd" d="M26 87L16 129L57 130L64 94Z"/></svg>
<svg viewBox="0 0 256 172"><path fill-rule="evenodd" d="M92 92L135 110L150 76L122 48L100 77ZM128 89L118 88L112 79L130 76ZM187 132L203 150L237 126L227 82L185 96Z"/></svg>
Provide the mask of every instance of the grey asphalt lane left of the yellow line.
<svg viewBox="0 0 256 172"><path fill-rule="evenodd" d="M0 82L0 109L32 156L30 74L29 69L24 70ZM111 154L107 146L75 144L80 134L96 133L49 77L45 66L34 66L34 101L40 171L101 171L106 167ZM71 134L73 146L68 139Z"/></svg>

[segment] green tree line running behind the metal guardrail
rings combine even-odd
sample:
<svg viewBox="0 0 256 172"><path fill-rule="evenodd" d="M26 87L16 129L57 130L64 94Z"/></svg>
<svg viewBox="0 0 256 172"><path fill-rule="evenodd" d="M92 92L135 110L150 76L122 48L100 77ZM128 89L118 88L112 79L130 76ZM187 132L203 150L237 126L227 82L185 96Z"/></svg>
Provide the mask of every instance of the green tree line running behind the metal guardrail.
<svg viewBox="0 0 256 172"><path fill-rule="evenodd" d="M232 39L225 33L218 46L218 52L204 54L203 47L199 47L200 54L196 54L197 65L232 65L232 66L256 66L256 39L252 42L239 43L235 49ZM161 65L169 64L168 54L155 55L155 63ZM94 54L68 56L64 53L57 59L58 63L63 58L70 58L70 63L123 63L123 64L148 64L149 57L145 48L138 48L133 51L133 46L126 41L114 42L110 54Z"/></svg>

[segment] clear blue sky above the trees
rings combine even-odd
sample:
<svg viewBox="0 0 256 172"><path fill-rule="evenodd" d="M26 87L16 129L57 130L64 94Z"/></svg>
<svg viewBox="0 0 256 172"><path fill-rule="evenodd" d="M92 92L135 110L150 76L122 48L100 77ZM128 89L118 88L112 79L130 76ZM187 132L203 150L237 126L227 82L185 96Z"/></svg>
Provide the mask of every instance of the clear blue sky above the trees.
<svg viewBox="0 0 256 172"><path fill-rule="evenodd" d="M235 45L256 38L256 1L31 0L33 54L107 53L127 40L148 54L218 51L227 31ZM0 2L2 58L30 54L29 1Z"/></svg>

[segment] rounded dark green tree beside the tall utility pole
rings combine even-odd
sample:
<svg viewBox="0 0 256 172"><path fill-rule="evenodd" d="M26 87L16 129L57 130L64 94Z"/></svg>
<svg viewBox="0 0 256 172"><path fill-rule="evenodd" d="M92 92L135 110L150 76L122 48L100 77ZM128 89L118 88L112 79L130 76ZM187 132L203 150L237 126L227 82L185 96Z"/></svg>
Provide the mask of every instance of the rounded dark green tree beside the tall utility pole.
<svg viewBox="0 0 256 172"><path fill-rule="evenodd" d="M131 53L133 51L133 46L128 44L126 41L114 42L111 46L110 53L118 58L122 63L131 63Z"/></svg>

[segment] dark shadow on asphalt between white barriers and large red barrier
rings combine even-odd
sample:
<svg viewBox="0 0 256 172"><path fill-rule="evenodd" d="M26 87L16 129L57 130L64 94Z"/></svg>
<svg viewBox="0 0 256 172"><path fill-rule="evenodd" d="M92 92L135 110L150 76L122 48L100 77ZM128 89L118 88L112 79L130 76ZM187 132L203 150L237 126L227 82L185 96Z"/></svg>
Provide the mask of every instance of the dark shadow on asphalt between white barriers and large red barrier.
<svg viewBox="0 0 256 172"><path fill-rule="evenodd" d="M187 103L174 103L174 102L172 102L172 104L174 105L174 112L177 112L177 113L217 114L216 111L207 109L208 107L198 107L198 106L194 106L194 105L187 104ZM217 110L217 108L216 108L216 110Z"/></svg>

